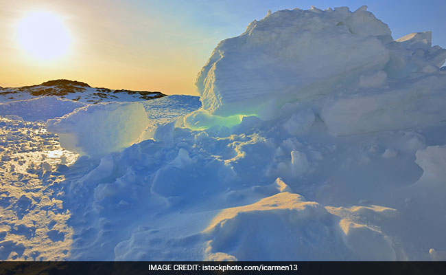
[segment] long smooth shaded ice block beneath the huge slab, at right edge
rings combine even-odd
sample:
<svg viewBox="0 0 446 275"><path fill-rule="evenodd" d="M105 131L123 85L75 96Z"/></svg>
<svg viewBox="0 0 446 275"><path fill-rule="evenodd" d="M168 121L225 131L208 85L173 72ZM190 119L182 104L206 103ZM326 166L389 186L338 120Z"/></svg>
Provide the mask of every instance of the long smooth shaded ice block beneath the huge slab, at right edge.
<svg viewBox="0 0 446 275"><path fill-rule="evenodd" d="M334 135L435 125L446 120L445 87L443 75L406 78L390 89L327 100L320 118Z"/></svg>

